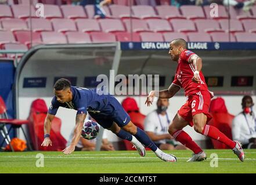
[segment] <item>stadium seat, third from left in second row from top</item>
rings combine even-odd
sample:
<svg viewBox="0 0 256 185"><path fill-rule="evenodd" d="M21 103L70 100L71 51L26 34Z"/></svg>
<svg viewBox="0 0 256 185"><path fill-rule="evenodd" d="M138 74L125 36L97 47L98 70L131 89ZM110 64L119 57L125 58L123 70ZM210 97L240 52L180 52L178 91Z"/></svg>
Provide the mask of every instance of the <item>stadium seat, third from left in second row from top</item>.
<svg viewBox="0 0 256 185"><path fill-rule="evenodd" d="M53 29L56 32L77 31L75 22L68 18L52 18Z"/></svg>

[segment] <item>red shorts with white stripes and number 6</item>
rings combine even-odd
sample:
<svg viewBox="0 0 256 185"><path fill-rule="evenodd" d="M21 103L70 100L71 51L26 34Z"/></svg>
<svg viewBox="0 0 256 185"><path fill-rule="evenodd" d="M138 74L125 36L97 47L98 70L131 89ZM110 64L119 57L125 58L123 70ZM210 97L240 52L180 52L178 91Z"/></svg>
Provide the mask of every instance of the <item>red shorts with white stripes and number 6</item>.
<svg viewBox="0 0 256 185"><path fill-rule="evenodd" d="M207 122L211 120L208 112L211 102L211 94L209 91L199 91L196 94L189 95L188 101L178 110L179 116L183 117L193 127L193 116L204 113L207 116Z"/></svg>

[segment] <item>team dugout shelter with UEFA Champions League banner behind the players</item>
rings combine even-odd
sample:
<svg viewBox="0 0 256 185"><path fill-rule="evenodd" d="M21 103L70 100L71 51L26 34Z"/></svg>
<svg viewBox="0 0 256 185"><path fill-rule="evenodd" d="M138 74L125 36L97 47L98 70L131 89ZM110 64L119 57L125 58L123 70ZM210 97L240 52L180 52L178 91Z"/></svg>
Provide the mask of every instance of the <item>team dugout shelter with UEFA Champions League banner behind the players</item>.
<svg viewBox="0 0 256 185"><path fill-rule="evenodd" d="M256 43L188 43L190 50L203 58L203 73L210 90L225 98L230 113L240 112L241 97L256 92ZM74 86L96 87L96 76L117 74L160 75L160 90L168 88L177 64L168 56L168 43L105 43L79 45L35 46L21 58L15 75L16 117L27 119L31 102L53 97L53 84L60 77L70 79ZM117 96L121 102L127 95ZM140 110L147 114L156 108L144 105L145 96L134 96ZM185 97L183 91L171 99L168 111L176 113ZM62 134L68 139L74 127L75 111L60 108ZM188 128L195 140L205 140ZM112 138L118 142L117 138ZM111 139L110 139L111 140ZM204 142L200 143L204 147Z"/></svg>

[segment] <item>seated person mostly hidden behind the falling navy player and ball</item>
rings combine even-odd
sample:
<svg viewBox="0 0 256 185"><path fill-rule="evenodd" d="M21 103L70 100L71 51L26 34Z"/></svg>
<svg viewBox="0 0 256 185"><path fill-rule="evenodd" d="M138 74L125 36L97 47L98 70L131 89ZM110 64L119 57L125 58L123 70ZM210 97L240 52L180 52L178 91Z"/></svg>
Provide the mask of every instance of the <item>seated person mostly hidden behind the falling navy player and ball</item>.
<svg viewBox="0 0 256 185"><path fill-rule="evenodd" d="M72 138L74 135L74 129L71 131L70 138L68 139L67 146L70 145ZM79 142L77 143L77 146L75 146L75 151L93 151L96 148L96 140L95 139L85 139L85 138L80 138ZM110 151L110 150L115 150L114 146L109 143L109 140L106 138L106 131L104 130L103 132L103 137L102 137L102 146L100 147L100 150L105 150L105 151Z"/></svg>

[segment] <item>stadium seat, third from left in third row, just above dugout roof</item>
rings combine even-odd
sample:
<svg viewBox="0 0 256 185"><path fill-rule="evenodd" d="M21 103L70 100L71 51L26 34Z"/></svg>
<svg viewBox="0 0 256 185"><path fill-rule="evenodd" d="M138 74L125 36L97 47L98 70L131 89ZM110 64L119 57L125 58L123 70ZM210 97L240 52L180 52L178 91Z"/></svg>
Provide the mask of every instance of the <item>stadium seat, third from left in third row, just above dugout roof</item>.
<svg viewBox="0 0 256 185"><path fill-rule="evenodd" d="M60 32L41 32L42 42L45 44L66 44L66 36Z"/></svg>

